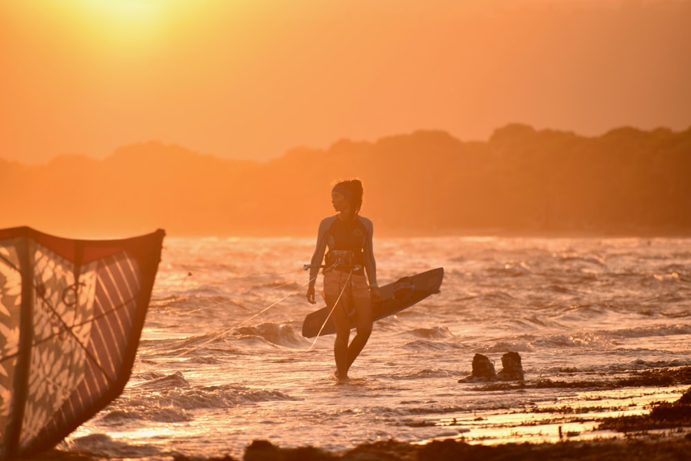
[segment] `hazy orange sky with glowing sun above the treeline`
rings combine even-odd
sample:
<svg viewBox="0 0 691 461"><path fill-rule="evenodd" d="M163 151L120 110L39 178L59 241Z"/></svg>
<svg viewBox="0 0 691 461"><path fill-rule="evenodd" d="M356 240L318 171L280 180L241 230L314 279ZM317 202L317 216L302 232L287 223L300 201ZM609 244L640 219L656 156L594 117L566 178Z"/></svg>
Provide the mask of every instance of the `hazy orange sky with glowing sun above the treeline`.
<svg viewBox="0 0 691 461"><path fill-rule="evenodd" d="M3 0L0 158L691 126L690 1Z"/></svg>

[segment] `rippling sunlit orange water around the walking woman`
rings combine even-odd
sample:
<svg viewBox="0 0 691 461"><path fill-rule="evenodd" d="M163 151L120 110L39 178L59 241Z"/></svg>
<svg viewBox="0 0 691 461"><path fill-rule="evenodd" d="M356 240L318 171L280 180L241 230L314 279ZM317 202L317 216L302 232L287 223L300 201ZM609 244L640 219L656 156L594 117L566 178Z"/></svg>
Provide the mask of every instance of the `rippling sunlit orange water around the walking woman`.
<svg viewBox="0 0 691 461"><path fill-rule="evenodd" d="M497 370L504 352L519 352L528 384L691 365L691 239L375 239L380 283L434 267L444 283L375 323L345 384L331 377L333 336L300 334L321 307L305 300L301 270L312 239L164 245L129 384L61 449L241 458L256 439L344 450L390 438L556 440L558 426L586 439L602 436L588 415L642 413L688 387L488 391L457 381L476 352Z"/></svg>

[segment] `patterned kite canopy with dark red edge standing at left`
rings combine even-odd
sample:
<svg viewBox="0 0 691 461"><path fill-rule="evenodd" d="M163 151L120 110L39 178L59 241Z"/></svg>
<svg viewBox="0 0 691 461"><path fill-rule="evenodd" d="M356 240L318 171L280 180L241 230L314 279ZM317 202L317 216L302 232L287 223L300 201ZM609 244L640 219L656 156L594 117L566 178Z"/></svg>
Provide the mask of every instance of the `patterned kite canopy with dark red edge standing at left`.
<svg viewBox="0 0 691 461"><path fill-rule="evenodd" d="M0 458L55 446L122 393L164 235L0 229Z"/></svg>

